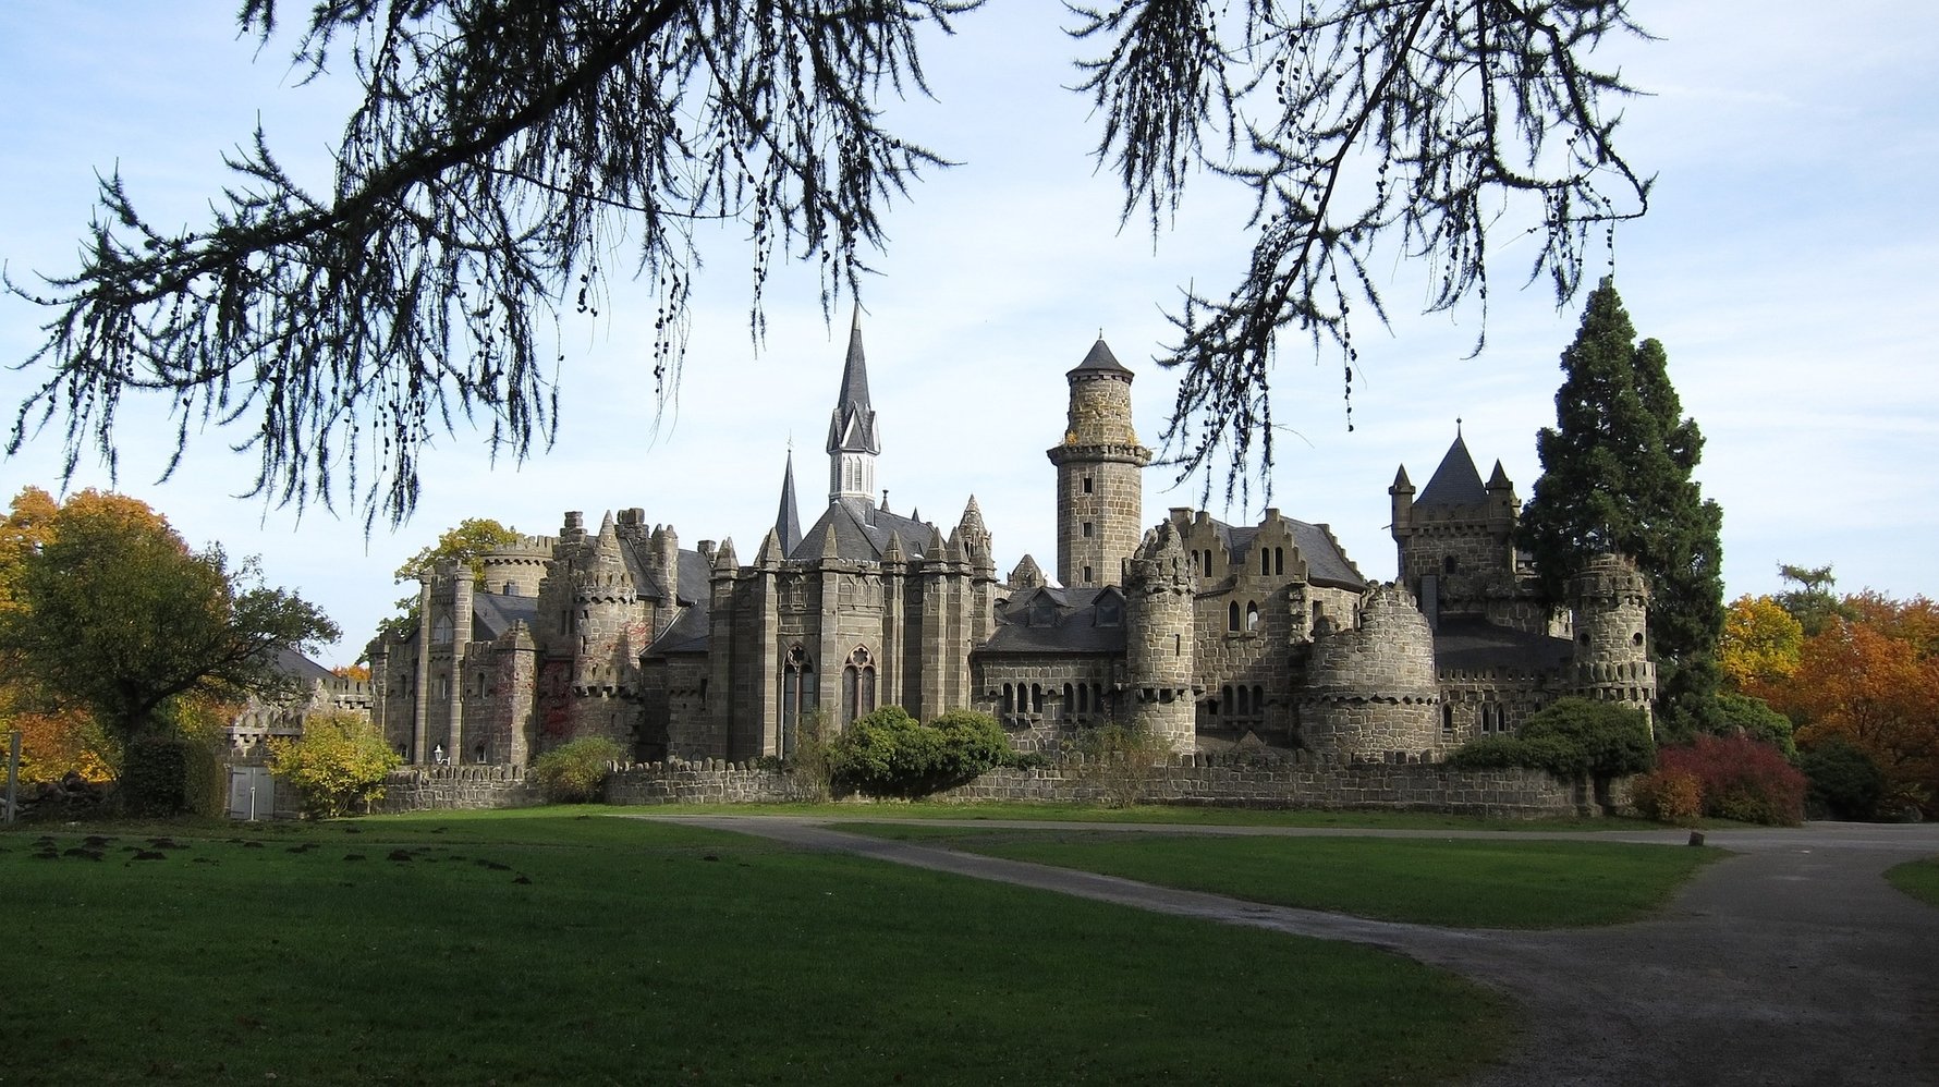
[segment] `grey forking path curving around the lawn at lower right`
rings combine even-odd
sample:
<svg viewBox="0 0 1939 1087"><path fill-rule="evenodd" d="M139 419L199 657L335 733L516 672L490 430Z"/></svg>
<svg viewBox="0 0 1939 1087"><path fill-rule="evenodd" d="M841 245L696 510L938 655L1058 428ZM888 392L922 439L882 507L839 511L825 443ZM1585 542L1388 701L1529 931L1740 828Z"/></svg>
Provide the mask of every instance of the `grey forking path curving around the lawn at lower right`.
<svg viewBox="0 0 1939 1087"><path fill-rule="evenodd" d="M1001 880L1128 907L1373 944L1499 986L1526 1009L1518 1050L1476 1087L1797 1085L1939 1087L1939 909L1879 878L1939 854L1939 825L1813 823L1720 831L1735 853L1656 918L1563 932L1452 930L1268 907L1016 860L842 833L774 816L675 820ZM871 818L869 822L886 822ZM933 820L923 820L935 825ZM975 827L1012 825L977 820ZM1353 831L1014 823L1214 835L1505 837L1493 831ZM1509 837L1683 841L1683 831Z"/></svg>

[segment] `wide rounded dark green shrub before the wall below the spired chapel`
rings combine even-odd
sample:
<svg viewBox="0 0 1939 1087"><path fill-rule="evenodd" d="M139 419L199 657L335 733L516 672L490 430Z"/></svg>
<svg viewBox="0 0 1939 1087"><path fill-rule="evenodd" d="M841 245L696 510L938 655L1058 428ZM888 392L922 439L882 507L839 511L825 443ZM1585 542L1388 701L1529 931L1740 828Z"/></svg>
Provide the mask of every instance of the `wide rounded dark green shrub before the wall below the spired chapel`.
<svg viewBox="0 0 1939 1087"><path fill-rule="evenodd" d="M828 744L828 763L845 789L923 796L1002 765L1008 752L1008 736L987 713L952 711L923 725L900 705L884 705Z"/></svg>

